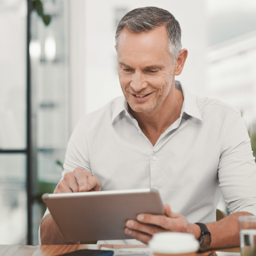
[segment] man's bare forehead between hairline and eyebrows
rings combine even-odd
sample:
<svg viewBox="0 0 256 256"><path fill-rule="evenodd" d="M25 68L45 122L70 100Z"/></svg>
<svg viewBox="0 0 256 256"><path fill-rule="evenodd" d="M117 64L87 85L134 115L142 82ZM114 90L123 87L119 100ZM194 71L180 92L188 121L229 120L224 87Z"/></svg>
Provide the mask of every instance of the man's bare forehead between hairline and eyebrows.
<svg viewBox="0 0 256 256"><path fill-rule="evenodd" d="M118 37L118 60L132 64L163 62L171 58L165 26L137 34L124 28Z"/></svg>

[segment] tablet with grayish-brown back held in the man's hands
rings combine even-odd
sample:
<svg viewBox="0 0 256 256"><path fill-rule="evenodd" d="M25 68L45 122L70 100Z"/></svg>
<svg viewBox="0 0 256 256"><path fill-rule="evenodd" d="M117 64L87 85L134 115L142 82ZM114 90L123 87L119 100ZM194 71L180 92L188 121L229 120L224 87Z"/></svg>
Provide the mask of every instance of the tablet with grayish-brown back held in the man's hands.
<svg viewBox="0 0 256 256"><path fill-rule="evenodd" d="M42 196L66 241L132 239L125 222L140 213L164 215L155 189L44 194Z"/></svg>

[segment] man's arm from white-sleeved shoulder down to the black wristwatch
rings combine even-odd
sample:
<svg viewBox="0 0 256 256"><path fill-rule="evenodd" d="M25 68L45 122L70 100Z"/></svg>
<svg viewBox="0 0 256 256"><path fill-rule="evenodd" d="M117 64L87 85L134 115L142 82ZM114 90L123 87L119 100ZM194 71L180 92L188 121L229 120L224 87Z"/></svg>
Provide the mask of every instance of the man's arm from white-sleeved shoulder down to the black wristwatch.
<svg viewBox="0 0 256 256"><path fill-rule="evenodd" d="M222 138L219 160L219 186L231 215L208 223L212 234L210 248L238 247L238 216L256 214L256 164L247 128L238 113L229 122Z"/></svg>

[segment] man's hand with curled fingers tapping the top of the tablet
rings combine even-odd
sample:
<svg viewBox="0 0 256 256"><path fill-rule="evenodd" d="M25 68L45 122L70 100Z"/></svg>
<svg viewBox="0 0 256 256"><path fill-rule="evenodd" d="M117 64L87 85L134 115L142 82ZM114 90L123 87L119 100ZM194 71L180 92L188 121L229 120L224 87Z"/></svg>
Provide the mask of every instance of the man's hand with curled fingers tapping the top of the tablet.
<svg viewBox="0 0 256 256"><path fill-rule="evenodd" d="M101 191L101 180L92 173L77 167L72 173L64 174L64 179L59 182L54 193L89 191Z"/></svg>

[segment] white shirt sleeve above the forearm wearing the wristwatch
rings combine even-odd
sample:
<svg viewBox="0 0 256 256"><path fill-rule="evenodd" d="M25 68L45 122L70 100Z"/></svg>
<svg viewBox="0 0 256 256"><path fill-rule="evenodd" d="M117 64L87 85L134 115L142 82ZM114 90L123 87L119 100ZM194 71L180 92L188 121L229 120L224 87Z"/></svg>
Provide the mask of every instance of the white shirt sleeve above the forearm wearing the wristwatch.
<svg viewBox="0 0 256 256"><path fill-rule="evenodd" d="M235 114L223 131L218 176L229 212L256 216L256 164L250 141L241 114Z"/></svg>

